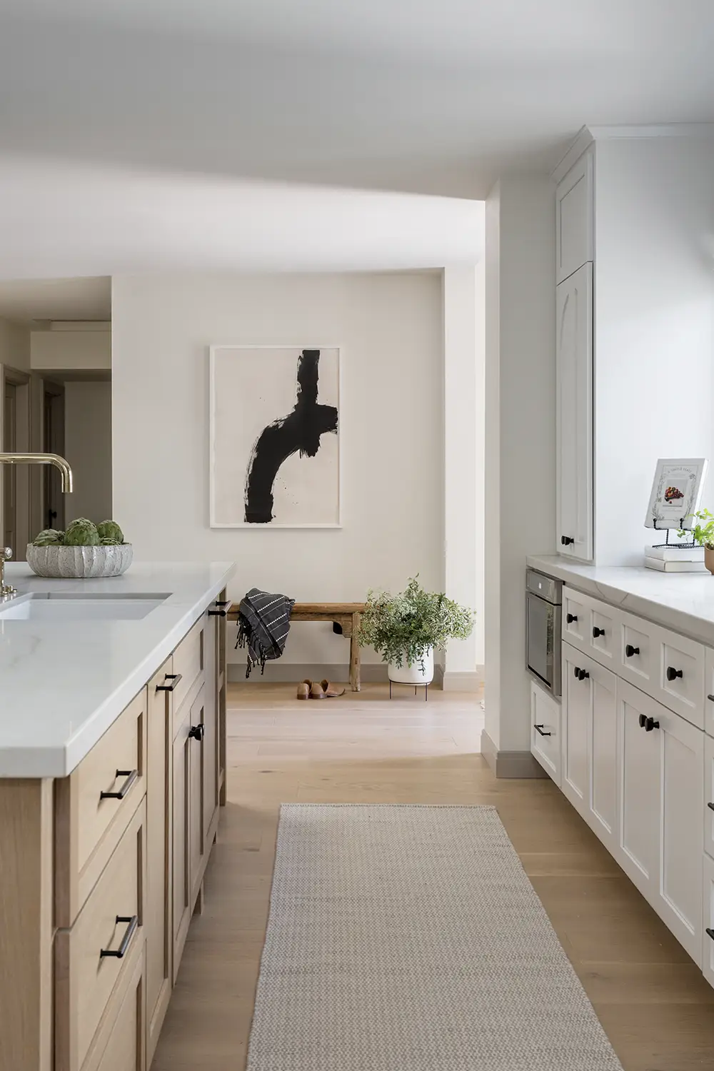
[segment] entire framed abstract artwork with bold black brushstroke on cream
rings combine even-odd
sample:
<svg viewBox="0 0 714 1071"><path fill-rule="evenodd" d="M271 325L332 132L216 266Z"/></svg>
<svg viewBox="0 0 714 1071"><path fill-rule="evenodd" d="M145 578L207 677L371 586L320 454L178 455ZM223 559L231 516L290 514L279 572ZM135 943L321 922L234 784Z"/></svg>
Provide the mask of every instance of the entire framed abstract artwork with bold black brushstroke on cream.
<svg viewBox="0 0 714 1071"><path fill-rule="evenodd" d="M338 346L211 346L212 528L339 528Z"/></svg>

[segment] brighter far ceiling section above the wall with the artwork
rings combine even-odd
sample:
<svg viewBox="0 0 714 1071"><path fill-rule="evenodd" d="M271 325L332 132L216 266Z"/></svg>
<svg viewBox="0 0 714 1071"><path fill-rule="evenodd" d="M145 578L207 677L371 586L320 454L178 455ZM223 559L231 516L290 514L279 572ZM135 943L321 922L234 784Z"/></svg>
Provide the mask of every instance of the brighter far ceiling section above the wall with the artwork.
<svg viewBox="0 0 714 1071"><path fill-rule="evenodd" d="M0 156L0 280L412 270L475 263L484 205Z"/></svg>

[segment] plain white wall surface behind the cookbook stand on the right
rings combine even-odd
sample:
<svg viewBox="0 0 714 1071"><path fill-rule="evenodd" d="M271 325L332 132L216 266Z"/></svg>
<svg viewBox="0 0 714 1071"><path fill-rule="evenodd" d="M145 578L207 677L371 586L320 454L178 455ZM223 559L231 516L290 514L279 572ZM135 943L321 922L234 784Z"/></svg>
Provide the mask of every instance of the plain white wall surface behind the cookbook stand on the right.
<svg viewBox="0 0 714 1071"><path fill-rule="evenodd" d="M595 147L595 545L639 565L658 457L709 457L714 509L714 140Z"/></svg>

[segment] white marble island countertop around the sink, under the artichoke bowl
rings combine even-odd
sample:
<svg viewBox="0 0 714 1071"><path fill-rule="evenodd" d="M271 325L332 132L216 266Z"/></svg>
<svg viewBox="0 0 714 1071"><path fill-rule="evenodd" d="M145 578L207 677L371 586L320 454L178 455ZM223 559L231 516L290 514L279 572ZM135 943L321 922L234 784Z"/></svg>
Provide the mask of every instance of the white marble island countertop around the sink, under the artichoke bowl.
<svg viewBox="0 0 714 1071"><path fill-rule="evenodd" d="M71 773L217 598L233 569L225 561L134 562L110 579L51 580L25 563L9 564L6 579L19 594L169 592L169 598L133 621L58 627L0 617L0 776Z"/></svg>

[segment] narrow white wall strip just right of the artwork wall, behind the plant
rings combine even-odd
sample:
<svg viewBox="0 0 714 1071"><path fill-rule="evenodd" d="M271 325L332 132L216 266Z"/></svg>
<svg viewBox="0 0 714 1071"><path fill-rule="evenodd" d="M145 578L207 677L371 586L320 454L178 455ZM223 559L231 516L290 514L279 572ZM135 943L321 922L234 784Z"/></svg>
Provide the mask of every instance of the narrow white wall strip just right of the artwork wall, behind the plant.
<svg viewBox="0 0 714 1071"><path fill-rule="evenodd" d="M443 286L445 591L476 610L471 637L446 652L444 687L461 688L484 664L483 265L446 268Z"/></svg>

